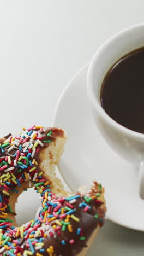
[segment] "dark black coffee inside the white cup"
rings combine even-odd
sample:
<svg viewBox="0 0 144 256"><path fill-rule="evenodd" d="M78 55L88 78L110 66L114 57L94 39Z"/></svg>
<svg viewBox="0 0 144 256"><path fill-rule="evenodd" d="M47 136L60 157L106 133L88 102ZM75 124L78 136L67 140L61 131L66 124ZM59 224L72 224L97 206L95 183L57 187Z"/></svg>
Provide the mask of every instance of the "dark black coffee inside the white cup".
<svg viewBox="0 0 144 256"><path fill-rule="evenodd" d="M144 133L144 48L122 57L107 72L101 105L117 123Z"/></svg>

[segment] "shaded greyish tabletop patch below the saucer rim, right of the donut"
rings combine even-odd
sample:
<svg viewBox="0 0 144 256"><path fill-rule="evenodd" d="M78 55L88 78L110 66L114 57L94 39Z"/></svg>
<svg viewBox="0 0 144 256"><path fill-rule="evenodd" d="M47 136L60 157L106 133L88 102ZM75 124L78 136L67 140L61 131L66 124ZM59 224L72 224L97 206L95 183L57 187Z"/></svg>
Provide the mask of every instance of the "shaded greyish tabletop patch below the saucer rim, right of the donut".
<svg viewBox="0 0 144 256"><path fill-rule="evenodd" d="M100 229L87 255L142 256L143 241L143 232L123 228L106 220L105 226Z"/></svg>

